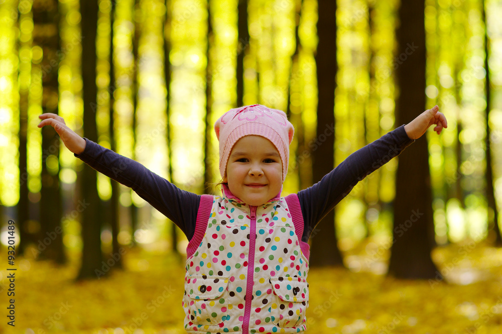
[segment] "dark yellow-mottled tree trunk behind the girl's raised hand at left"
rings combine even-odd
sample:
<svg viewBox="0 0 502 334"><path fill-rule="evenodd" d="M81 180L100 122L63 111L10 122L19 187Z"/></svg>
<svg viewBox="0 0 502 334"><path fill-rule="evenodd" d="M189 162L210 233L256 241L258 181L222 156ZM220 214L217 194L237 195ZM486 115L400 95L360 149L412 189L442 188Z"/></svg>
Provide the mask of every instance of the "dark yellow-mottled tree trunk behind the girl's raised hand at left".
<svg viewBox="0 0 502 334"><path fill-rule="evenodd" d="M58 114L58 69L61 59L59 39L59 8L56 0L33 2L33 44L42 48L42 112ZM59 136L52 127L42 129L42 188L40 190L40 238L47 246L39 255L42 259L65 262L62 205L59 189ZM48 168L49 163L49 168ZM49 242L45 240L49 238Z"/></svg>

